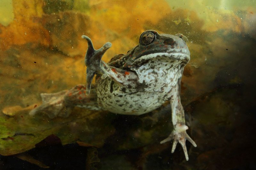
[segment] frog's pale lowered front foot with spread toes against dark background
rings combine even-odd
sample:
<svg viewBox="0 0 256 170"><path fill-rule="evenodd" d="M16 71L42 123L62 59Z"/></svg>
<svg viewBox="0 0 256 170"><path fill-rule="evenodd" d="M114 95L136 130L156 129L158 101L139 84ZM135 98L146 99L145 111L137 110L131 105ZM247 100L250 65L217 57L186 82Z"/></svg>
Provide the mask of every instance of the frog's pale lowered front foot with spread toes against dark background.
<svg viewBox="0 0 256 170"><path fill-rule="evenodd" d="M188 126L186 125L176 125L175 129L172 131L171 135L164 139L163 141L160 142L160 144L163 144L165 142L168 142L173 139L173 144L172 144L172 153L174 152L177 143L179 142L183 148L186 160L188 160L188 152L187 152L187 147L186 147L186 140L196 147L196 143L191 139L191 137L188 136L186 133L186 130L188 129Z"/></svg>

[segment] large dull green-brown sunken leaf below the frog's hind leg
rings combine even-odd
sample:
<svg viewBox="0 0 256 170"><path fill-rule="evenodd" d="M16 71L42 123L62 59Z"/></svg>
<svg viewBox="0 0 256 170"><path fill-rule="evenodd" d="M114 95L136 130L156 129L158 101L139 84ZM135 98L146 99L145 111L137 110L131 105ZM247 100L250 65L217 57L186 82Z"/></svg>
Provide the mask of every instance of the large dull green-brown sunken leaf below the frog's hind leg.
<svg viewBox="0 0 256 170"><path fill-rule="evenodd" d="M115 131L105 121L108 119L104 113L80 108L74 108L68 118L33 117L22 110L13 117L0 115L0 154L25 152L51 134L59 137L63 145L80 140L100 147Z"/></svg>

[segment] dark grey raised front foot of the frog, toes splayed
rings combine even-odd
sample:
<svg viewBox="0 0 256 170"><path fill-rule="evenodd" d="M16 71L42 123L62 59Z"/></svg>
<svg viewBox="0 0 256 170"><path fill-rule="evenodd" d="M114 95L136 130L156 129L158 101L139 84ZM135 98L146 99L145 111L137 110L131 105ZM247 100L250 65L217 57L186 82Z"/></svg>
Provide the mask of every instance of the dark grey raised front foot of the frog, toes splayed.
<svg viewBox="0 0 256 170"><path fill-rule="evenodd" d="M100 49L95 50L92 45L92 40L82 35L82 38L88 42L88 49L85 55L85 65L86 69L86 95L90 93L92 79L96 73L102 74L101 78L104 79L108 76L104 66L106 67L106 63L104 63L101 58L103 54L112 46L110 42L106 42Z"/></svg>

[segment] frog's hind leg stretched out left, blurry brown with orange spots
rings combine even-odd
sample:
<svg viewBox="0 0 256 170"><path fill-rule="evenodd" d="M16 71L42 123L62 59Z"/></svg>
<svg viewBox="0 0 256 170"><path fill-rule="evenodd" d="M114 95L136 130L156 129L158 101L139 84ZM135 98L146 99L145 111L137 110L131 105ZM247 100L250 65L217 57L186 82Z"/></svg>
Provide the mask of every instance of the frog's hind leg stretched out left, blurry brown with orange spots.
<svg viewBox="0 0 256 170"><path fill-rule="evenodd" d="M101 110L97 103L97 94L92 89L90 96L85 95L85 86L76 85L70 90L57 93L41 93L42 105L34 108L29 115L47 114L50 118L67 117L74 107L84 107L90 110Z"/></svg>

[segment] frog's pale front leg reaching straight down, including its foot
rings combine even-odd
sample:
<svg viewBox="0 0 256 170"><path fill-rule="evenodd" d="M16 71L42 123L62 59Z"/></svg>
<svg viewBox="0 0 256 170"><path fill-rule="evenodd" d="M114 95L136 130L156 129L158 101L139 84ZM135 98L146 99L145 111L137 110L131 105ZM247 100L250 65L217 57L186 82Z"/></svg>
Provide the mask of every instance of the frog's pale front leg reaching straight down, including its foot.
<svg viewBox="0 0 256 170"><path fill-rule="evenodd" d="M177 88L179 86L177 85ZM172 124L173 124L173 131L169 137L161 141L160 143L163 144L173 139L172 144L172 153L174 152L177 143L179 142L183 148L186 160L188 160L188 152L186 147L186 140L196 147L196 143L188 136L186 130L188 126L185 124L185 115L184 109L180 102L180 92L179 90L176 91L176 95L174 98L171 99L171 106L172 106Z"/></svg>

